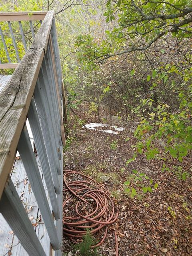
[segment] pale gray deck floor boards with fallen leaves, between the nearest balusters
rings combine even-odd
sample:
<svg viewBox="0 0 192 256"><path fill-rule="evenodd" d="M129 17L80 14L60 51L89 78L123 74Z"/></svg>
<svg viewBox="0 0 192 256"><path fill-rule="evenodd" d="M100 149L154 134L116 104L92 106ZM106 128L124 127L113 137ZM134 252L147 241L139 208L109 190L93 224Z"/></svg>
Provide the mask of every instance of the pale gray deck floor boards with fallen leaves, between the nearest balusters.
<svg viewBox="0 0 192 256"><path fill-rule="evenodd" d="M37 157L37 162L38 162L38 166L40 166L38 157ZM30 183L28 182L28 178L26 176L24 166L20 159L15 161L11 178L13 183L16 186L16 190L18 194L22 199L24 207L28 212L28 216L31 222L34 224L34 228L36 229L36 234L40 239L40 242L46 252L46 255L50 256L50 252L51 252L50 239L46 231L44 222L41 218L41 213L38 209L36 199L30 188ZM44 184L46 195L48 196L44 179L42 179L42 181ZM49 198L48 198L48 202L50 204ZM38 222L38 220L40 221ZM36 224L38 225L36 226ZM11 228L4 220L3 216L0 214L0 256L6 256L9 254L12 256L21 256L21 255L28 256L28 254L20 244L18 238L12 233Z"/></svg>

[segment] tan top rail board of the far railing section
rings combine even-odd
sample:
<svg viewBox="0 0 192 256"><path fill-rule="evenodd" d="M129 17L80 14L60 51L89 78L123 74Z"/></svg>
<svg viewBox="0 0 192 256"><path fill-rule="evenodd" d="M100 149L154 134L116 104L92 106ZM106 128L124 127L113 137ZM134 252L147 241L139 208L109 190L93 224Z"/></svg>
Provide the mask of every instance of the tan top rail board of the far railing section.
<svg viewBox="0 0 192 256"><path fill-rule="evenodd" d="M47 12L0 12L1 21L44 20Z"/></svg>

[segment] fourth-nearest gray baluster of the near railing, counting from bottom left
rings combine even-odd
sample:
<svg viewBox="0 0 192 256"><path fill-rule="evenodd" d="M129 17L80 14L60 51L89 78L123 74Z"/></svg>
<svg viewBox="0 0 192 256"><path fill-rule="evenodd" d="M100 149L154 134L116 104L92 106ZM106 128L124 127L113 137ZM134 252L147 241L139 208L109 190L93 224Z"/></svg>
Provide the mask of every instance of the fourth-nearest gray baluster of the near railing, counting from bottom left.
<svg viewBox="0 0 192 256"><path fill-rule="evenodd" d="M42 84L43 83L41 83L41 85ZM46 106L48 106L48 103L45 104L44 97L45 97L45 94L42 93L40 82L38 81L34 91L34 100L35 100L35 104L36 104L36 108L38 111L38 116L39 116L39 120L42 128L48 160L50 163L55 192L56 194L59 194L60 186L59 186L59 180L57 175L58 167L57 167L57 162L54 154L55 149L53 148L53 144L52 144L52 134L50 133L49 126L48 126L48 118L46 116Z"/></svg>

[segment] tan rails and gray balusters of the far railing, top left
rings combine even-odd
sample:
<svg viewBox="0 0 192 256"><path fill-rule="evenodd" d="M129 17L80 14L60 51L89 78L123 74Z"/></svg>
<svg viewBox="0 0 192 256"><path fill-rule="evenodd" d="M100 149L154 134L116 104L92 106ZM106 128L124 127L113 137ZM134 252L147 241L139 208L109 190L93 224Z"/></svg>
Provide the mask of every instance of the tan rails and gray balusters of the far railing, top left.
<svg viewBox="0 0 192 256"><path fill-rule="evenodd" d="M18 61L18 63L20 62L20 54L18 52L18 47L17 47L17 42L14 36L14 31L12 29L12 22L18 22L18 30L20 30L20 34L21 34L21 38L22 38L22 44L23 44L23 51L26 52L27 51L27 44L26 44L26 39L25 39L25 34L24 34L24 30L22 27L22 22L26 22L28 21L28 25L30 27L30 34L32 35L32 38L35 37L35 33L34 33L34 24L32 24L32 21L39 21L40 23L42 23L42 20L44 20L45 16L46 16L47 12L0 12L0 23L3 24L8 24L8 29L10 32L10 38L12 39L12 44L14 46L14 50L16 53L16 59ZM27 32L28 34L28 32ZM7 35L6 35L7 37ZM4 46L4 50L6 52L6 57L7 57L7 61L8 63L2 63L2 61L0 60L0 69L6 69L6 68L16 68L17 67L17 63L12 63L12 60L10 58L10 54L8 51L8 47L6 45L6 40L5 40L5 36L4 36L4 31L0 26L0 38L2 40L2 44Z"/></svg>

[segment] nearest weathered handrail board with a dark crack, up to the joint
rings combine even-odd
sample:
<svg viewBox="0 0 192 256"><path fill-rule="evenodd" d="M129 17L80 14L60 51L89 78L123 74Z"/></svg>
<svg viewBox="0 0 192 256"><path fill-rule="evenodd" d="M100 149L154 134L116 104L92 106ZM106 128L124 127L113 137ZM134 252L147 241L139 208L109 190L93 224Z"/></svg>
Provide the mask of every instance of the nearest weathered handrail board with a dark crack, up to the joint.
<svg viewBox="0 0 192 256"><path fill-rule="evenodd" d="M43 56L43 49L29 49L0 92L0 196L14 163Z"/></svg>

